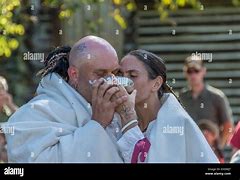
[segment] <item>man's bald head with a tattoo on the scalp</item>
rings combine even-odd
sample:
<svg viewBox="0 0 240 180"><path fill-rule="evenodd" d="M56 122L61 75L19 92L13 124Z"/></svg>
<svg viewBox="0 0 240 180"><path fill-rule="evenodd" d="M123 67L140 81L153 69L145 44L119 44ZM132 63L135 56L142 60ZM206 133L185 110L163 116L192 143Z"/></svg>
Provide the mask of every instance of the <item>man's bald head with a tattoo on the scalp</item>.
<svg viewBox="0 0 240 180"><path fill-rule="evenodd" d="M106 40L96 36L80 39L69 55L69 84L88 102L92 89L89 81L116 74L119 62L115 49Z"/></svg>

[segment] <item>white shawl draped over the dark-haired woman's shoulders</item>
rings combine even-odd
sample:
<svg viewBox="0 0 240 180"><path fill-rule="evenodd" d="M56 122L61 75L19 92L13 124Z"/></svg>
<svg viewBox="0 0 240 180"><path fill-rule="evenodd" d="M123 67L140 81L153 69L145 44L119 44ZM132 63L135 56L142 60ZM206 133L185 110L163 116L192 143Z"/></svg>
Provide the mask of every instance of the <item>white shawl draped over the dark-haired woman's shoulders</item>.
<svg viewBox="0 0 240 180"><path fill-rule="evenodd" d="M171 93L147 134L151 147L146 162L218 162L198 126Z"/></svg>

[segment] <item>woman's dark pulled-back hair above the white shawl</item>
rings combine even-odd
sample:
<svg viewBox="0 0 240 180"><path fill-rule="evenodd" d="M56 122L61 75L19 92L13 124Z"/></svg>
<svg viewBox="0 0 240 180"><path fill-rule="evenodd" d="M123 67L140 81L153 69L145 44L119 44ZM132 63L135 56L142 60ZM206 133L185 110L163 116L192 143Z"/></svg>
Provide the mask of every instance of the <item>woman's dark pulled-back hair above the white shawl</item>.
<svg viewBox="0 0 240 180"><path fill-rule="evenodd" d="M128 53L128 55L135 56L138 60L140 60L144 64L150 79L155 79L157 76L162 77L163 84L158 91L159 99L162 98L163 93L172 93L177 98L172 88L166 82L167 69L164 64L164 61L160 57L142 49L133 50L130 53Z"/></svg>

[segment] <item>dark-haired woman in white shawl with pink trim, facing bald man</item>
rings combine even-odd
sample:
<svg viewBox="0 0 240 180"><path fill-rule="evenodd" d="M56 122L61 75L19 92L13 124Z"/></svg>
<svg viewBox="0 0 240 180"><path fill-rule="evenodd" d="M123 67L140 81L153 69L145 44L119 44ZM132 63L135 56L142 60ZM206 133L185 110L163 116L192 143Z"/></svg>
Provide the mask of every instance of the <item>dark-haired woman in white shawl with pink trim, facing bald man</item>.
<svg viewBox="0 0 240 180"><path fill-rule="evenodd" d="M135 120L125 123L118 140L125 162L218 162L167 85L161 58L148 51L134 50L120 65L121 75L132 79L137 90L138 125L133 126Z"/></svg>

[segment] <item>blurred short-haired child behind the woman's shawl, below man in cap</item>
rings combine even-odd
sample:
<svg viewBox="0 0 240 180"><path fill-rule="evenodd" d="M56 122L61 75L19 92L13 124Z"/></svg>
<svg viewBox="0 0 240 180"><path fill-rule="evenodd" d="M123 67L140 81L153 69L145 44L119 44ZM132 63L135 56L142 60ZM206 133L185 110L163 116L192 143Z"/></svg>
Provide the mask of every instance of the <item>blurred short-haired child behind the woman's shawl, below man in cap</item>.
<svg viewBox="0 0 240 180"><path fill-rule="evenodd" d="M219 148L219 129L218 126L207 119L200 120L198 123L203 135L205 136L208 144L211 146L213 152L219 159L220 163L224 163L224 156Z"/></svg>

